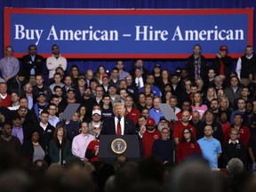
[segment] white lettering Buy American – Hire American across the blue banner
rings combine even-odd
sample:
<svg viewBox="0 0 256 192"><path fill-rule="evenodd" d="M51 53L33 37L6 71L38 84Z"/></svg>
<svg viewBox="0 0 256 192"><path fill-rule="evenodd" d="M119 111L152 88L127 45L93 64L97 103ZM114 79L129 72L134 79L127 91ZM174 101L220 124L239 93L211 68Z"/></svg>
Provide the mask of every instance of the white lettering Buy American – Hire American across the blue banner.
<svg viewBox="0 0 256 192"><path fill-rule="evenodd" d="M44 29L25 28L24 25L14 25L15 40L36 40L39 44L41 37L45 34L47 41L119 41L121 38L132 38L134 41L239 41L244 40L243 29L227 29L213 26L210 29L182 29L179 25L171 33L168 30L155 29L153 26L135 26L132 33L119 32L113 30L94 29L89 26L88 29L60 29L57 30L54 25L48 32Z"/></svg>

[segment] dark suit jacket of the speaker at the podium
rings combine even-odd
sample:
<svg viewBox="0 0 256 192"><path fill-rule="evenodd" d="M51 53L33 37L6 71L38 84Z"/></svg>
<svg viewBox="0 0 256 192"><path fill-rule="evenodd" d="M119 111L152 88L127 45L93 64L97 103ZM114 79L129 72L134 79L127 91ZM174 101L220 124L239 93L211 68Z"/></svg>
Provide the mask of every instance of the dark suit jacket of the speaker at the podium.
<svg viewBox="0 0 256 192"><path fill-rule="evenodd" d="M115 117L106 119L102 124L100 134L116 135ZM136 134L135 124L131 119L124 117L124 135Z"/></svg>

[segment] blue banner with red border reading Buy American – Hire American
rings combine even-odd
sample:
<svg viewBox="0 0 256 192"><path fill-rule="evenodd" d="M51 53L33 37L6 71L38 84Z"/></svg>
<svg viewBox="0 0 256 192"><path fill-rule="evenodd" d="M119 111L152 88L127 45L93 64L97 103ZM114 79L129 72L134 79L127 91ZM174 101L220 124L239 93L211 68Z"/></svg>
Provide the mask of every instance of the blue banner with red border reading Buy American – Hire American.
<svg viewBox="0 0 256 192"><path fill-rule="evenodd" d="M215 57L222 44L239 57L252 44L252 9L52 10L5 9L4 44L17 57L52 44L68 58L187 58L195 44Z"/></svg>

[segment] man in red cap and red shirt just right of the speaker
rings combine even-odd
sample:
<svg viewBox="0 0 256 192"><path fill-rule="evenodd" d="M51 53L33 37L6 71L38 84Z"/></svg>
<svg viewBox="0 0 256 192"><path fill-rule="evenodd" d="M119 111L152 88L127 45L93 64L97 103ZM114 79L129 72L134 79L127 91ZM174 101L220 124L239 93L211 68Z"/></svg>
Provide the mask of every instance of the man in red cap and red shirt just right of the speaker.
<svg viewBox="0 0 256 192"><path fill-rule="evenodd" d="M145 124L146 130L142 136L143 157L152 156L152 146L155 140L161 139L161 132L156 129L156 121L149 117Z"/></svg>

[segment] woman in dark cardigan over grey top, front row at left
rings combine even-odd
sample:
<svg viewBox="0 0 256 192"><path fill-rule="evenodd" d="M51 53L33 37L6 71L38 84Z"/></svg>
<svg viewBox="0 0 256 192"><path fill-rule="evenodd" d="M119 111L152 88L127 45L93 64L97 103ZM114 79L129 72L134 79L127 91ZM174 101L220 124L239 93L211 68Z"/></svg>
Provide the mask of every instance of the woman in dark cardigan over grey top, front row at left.
<svg viewBox="0 0 256 192"><path fill-rule="evenodd" d="M42 159L45 157L44 145L39 142L39 132L32 132L31 140L25 140L21 146L21 153L28 159L29 164L33 164L36 160Z"/></svg>

